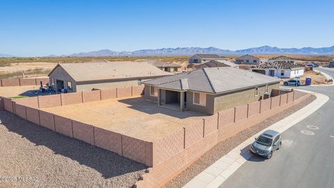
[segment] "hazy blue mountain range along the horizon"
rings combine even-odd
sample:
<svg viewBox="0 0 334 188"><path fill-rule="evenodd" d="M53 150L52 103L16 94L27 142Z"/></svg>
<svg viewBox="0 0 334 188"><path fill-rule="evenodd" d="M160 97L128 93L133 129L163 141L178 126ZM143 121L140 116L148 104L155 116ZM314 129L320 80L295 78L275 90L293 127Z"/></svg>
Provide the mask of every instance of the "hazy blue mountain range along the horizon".
<svg viewBox="0 0 334 188"><path fill-rule="evenodd" d="M243 55L243 54L300 54L300 55L334 55L332 47L302 47L302 48L279 48L279 47L253 47L248 49L229 50L216 47L176 47L161 49L140 49L133 52L116 52L109 49L101 49L93 52L79 52L62 56L192 56L193 54L218 54L218 55ZM13 57L8 54L0 54L0 57ZM57 57L50 55L48 57Z"/></svg>

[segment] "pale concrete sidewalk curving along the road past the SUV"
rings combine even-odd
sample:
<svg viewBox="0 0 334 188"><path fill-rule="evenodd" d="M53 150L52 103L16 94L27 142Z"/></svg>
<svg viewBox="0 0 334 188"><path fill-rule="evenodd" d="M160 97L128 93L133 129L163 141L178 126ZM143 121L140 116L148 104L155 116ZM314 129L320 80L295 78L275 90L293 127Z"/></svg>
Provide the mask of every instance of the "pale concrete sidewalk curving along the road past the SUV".
<svg viewBox="0 0 334 188"><path fill-rule="evenodd" d="M303 90L299 90L303 91ZM264 130L276 130L278 132L284 132L289 129L289 127L294 126L296 123L299 123L301 120L310 116L313 112L317 111L322 105L324 105L329 97L320 93L313 93L310 91L303 91L305 93L311 93L317 96L317 99L303 109L292 113L292 115L284 118L283 120L274 123L270 127L267 127ZM209 166L205 171L198 174L193 180L184 185L184 188L207 188L207 187L218 187L221 185L234 171L237 171L239 167L244 164L252 154L248 150L248 146L253 143L254 138L259 136L262 132L258 132L254 136L251 136L249 139L241 143L239 146L228 152L227 155L218 159L214 164Z"/></svg>

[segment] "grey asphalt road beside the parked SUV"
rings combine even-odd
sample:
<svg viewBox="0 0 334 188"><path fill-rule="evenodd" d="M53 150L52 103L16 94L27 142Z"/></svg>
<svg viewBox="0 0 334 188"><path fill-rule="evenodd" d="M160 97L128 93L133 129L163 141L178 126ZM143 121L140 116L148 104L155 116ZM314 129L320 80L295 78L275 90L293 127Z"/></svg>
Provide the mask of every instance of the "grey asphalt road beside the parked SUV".
<svg viewBox="0 0 334 188"><path fill-rule="evenodd" d="M334 77L334 69L318 68ZM271 159L253 156L220 187L334 187L334 86L301 86L330 100L283 132L282 148ZM307 125L319 127L312 130ZM307 130L313 135L303 134Z"/></svg>

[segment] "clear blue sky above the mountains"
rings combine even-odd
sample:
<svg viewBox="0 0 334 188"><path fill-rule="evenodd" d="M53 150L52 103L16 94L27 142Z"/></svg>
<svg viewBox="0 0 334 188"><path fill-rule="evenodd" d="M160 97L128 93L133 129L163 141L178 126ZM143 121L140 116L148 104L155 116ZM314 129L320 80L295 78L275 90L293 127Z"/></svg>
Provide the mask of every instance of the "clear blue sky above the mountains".
<svg viewBox="0 0 334 188"><path fill-rule="evenodd" d="M334 1L0 1L0 54L334 45Z"/></svg>

